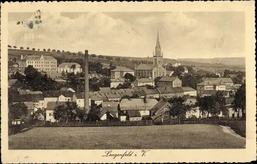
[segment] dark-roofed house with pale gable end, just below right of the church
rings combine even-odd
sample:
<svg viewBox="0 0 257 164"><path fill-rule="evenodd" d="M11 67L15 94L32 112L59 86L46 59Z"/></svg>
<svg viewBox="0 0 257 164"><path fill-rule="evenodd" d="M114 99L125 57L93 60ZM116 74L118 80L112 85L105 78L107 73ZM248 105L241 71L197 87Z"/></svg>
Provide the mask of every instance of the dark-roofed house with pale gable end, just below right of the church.
<svg viewBox="0 0 257 164"><path fill-rule="evenodd" d="M182 81L177 76L163 76L158 82L158 87L181 87Z"/></svg>

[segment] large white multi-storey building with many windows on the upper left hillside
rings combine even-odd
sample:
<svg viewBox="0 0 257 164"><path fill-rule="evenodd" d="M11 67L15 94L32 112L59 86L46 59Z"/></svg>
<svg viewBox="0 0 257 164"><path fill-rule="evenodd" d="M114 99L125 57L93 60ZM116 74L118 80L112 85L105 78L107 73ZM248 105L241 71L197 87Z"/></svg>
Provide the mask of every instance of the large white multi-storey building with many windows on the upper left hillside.
<svg viewBox="0 0 257 164"><path fill-rule="evenodd" d="M17 60L19 68L26 68L28 66L33 66L38 71L47 73L57 72L57 59L52 56L31 56L27 55L21 59Z"/></svg>

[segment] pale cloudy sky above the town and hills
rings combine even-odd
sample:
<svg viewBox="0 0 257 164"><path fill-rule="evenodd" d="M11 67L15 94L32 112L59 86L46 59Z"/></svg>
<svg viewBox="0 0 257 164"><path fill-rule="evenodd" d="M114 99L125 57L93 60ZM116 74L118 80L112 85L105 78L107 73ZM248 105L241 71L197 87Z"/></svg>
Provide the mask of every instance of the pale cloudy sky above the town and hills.
<svg viewBox="0 0 257 164"><path fill-rule="evenodd" d="M9 13L9 45L150 57L159 31L165 58L244 57L244 12Z"/></svg>

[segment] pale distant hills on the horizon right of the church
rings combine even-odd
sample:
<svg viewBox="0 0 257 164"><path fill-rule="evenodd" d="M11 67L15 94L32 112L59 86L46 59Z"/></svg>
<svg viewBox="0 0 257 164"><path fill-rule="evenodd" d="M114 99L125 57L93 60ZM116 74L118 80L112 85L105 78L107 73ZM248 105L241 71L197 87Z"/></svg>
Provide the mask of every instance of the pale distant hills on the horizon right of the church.
<svg viewBox="0 0 257 164"><path fill-rule="evenodd" d="M209 63L228 66L245 66L245 57L179 58L177 61L191 61L196 63Z"/></svg>

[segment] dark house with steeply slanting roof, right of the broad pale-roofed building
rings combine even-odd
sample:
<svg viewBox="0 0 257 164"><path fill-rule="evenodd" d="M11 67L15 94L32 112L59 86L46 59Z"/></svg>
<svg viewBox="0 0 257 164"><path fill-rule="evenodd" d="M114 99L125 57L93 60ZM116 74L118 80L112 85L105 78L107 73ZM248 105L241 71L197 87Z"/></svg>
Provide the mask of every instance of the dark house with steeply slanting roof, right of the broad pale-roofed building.
<svg viewBox="0 0 257 164"><path fill-rule="evenodd" d="M169 118L171 104L164 99L160 99L158 103L150 109L151 118L153 121L163 122L164 117Z"/></svg>

